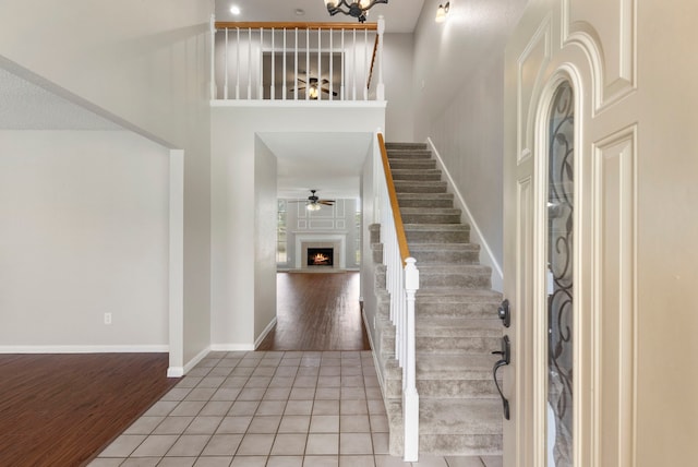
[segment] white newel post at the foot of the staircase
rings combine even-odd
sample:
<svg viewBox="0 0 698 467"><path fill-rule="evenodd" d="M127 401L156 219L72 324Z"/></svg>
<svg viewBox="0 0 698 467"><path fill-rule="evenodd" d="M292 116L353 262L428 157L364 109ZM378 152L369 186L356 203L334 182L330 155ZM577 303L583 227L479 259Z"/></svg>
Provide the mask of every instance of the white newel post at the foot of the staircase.
<svg viewBox="0 0 698 467"><path fill-rule="evenodd" d="M405 420L405 462L416 463L419 459L419 394L417 393L416 355L414 355L414 294L419 289L419 271L413 258L406 260L405 295L407 296L405 379L402 380L402 410Z"/></svg>

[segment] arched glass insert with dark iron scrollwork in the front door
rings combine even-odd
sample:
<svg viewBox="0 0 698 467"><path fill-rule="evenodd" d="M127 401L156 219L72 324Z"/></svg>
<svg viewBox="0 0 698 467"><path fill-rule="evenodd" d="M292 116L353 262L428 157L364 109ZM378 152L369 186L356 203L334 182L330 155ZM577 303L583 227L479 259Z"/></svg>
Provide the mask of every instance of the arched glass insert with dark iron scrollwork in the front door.
<svg viewBox="0 0 698 467"><path fill-rule="evenodd" d="M547 197L547 397L554 414L556 467L573 465L574 93L556 89L550 117Z"/></svg>

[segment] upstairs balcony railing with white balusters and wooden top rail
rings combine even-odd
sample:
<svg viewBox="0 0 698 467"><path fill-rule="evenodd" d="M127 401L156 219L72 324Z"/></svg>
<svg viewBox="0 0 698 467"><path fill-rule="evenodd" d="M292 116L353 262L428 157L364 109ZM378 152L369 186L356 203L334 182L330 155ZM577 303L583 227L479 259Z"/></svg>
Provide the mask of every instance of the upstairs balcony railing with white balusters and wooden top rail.
<svg viewBox="0 0 698 467"><path fill-rule="evenodd" d="M377 23L216 23L210 95L236 100L384 100Z"/></svg>

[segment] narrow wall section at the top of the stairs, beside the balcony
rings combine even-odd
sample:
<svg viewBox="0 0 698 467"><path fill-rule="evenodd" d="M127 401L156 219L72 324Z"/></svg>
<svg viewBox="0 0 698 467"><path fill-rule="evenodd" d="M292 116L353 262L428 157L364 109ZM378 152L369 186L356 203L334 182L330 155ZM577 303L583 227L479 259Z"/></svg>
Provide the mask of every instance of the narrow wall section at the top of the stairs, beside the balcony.
<svg viewBox="0 0 698 467"><path fill-rule="evenodd" d="M383 79L388 101L385 118L385 137L390 142L414 141L414 92L412 65L413 34L385 34L383 36Z"/></svg>

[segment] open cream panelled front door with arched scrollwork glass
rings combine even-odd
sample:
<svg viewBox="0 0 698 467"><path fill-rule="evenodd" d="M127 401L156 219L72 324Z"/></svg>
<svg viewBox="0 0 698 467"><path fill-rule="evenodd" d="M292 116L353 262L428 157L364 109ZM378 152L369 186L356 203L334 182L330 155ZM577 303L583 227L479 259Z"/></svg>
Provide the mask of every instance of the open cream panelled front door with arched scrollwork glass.
<svg viewBox="0 0 698 467"><path fill-rule="evenodd" d="M633 464L635 9L529 2L507 46L507 467Z"/></svg>

